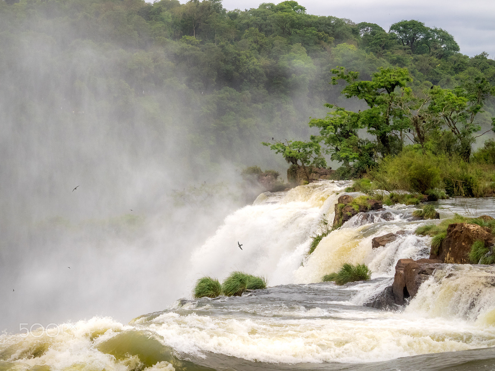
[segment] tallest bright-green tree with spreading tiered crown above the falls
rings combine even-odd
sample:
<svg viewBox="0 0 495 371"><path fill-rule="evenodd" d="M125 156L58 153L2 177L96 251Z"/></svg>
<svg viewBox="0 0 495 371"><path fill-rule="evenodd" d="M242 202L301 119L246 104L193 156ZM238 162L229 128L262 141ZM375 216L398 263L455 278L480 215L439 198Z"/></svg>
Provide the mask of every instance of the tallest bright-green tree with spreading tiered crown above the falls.
<svg viewBox="0 0 495 371"><path fill-rule="evenodd" d="M332 84L338 80L347 82L342 93L346 98L356 97L363 99L370 107L360 112L361 125L368 129L368 133L376 136L378 151L382 156L394 154L402 147L401 132L409 128L403 119L403 111L397 105L406 84L412 81L405 68L381 68L373 74L371 81L359 80L359 72L345 72L344 67L332 70L336 76L332 77Z"/></svg>

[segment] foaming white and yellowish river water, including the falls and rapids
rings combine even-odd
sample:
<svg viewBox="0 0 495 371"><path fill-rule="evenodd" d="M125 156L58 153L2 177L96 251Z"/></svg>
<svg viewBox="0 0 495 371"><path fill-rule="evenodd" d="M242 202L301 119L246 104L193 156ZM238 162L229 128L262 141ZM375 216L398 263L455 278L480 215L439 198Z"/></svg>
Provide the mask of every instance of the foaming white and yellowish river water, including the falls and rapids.
<svg viewBox="0 0 495 371"><path fill-rule="evenodd" d="M371 248L374 236L422 223L408 221L412 206L357 215L307 255L347 185L261 194L225 219L184 273L194 282L243 270L266 277L267 289L180 299L127 325L95 317L3 334L0 370L495 370L495 266L437 271L400 312L363 306L391 284L397 259L429 255L429 237L407 232ZM476 199L436 207L442 217L494 210ZM372 280L320 282L345 262L366 263Z"/></svg>

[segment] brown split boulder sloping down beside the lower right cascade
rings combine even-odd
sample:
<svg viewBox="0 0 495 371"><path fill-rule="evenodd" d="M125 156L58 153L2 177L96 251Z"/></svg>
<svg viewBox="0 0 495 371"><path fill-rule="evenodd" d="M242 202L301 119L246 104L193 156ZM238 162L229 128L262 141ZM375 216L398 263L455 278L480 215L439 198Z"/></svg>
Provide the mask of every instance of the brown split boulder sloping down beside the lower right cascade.
<svg viewBox="0 0 495 371"><path fill-rule="evenodd" d="M440 260L433 259L399 259L396 264L394 283L388 286L372 302L364 304L376 309L396 309L413 298L419 286L433 272L442 267Z"/></svg>

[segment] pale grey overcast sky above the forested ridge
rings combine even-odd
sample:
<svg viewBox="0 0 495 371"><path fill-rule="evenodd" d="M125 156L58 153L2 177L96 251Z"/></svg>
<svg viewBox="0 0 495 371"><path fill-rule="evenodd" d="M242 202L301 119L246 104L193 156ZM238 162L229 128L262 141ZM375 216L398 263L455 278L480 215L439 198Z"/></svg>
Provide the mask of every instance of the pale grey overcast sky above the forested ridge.
<svg viewBox="0 0 495 371"><path fill-rule="evenodd" d="M182 3L186 2L181 0ZM229 10L257 8L270 0L223 0ZM416 19L450 33L461 52L473 56L486 51L495 58L495 0L299 0L308 14L333 15L376 23L386 31L402 19Z"/></svg>

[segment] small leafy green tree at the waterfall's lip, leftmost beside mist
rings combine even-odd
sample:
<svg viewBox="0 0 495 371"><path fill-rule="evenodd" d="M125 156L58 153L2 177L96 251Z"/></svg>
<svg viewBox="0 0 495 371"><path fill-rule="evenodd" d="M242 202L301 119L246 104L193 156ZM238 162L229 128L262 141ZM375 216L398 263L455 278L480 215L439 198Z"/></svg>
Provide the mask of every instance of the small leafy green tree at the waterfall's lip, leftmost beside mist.
<svg viewBox="0 0 495 371"><path fill-rule="evenodd" d="M282 153L288 164L303 169L306 179L309 181L311 168L326 167L327 162L321 154L320 143L314 140L287 140L285 142L275 140L274 143L261 142L270 147L275 153Z"/></svg>

